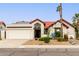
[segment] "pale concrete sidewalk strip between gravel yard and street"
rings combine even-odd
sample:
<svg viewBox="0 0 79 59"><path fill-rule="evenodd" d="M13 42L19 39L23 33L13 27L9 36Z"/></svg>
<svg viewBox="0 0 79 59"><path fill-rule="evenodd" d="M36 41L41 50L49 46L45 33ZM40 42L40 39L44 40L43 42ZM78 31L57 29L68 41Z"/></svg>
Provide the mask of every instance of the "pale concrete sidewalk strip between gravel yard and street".
<svg viewBox="0 0 79 59"><path fill-rule="evenodd" d="M20 45L17 48L79 48L79 45Z"/></svg>

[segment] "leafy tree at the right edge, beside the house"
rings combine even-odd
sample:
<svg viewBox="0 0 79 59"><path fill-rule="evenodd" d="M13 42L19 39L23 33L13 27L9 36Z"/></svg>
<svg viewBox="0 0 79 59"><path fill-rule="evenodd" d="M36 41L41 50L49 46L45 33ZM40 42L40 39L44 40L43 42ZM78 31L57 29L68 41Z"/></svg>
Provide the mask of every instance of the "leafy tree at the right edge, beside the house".
<svg viewBox="0 0 79 59"><path fill-rule="evenodd" d="M78 38L79 36L79 13L76 13L73 16L73 26L75 27L75 31L76 31L76 38Z"/></svg>

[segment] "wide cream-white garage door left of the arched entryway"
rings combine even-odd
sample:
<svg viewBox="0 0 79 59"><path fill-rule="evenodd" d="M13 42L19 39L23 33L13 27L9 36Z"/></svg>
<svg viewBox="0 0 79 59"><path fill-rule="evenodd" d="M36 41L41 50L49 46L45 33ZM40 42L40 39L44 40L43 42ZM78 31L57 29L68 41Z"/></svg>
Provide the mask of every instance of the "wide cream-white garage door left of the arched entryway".
<svg viewBox="0 0 79 59"><path fill-rule="evenodd" d="M32 30L7 30L6 39L33 39Z"/></svg>

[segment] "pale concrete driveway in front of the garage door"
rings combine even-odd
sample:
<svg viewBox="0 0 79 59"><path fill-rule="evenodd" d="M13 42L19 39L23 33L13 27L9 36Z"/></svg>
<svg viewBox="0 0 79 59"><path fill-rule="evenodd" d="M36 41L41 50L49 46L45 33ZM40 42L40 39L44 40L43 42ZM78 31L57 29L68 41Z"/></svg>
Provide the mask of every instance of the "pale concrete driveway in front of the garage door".
<svg viewBox="0 0 79 59"><path fill-rule="evenodd" d="M28 40L0 40L0 48L17 48Z"/></svg>

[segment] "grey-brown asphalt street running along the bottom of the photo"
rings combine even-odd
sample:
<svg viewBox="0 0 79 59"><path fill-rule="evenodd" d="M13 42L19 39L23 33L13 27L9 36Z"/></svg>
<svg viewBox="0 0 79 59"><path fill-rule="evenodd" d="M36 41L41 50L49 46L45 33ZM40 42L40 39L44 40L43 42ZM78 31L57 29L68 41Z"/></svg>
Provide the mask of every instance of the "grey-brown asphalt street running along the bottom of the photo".
<svg viewBox="0 0 79 59"><path fill-rule="evenodd" d="M0 48L0 56L79 56L79 48Z"/></svg>

